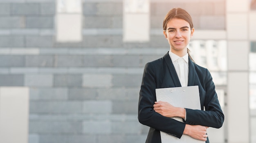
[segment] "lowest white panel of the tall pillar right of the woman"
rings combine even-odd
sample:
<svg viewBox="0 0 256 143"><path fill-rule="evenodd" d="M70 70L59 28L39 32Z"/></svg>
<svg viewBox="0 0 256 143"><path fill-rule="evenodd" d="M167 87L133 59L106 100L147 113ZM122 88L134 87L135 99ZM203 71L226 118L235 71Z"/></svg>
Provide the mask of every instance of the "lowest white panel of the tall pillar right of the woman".
<svg viewBox="0 0 256 143"><path fill-rule="evenodd" d="M228 74L227 134L228 143L249 143L248 72Z"/></svg>

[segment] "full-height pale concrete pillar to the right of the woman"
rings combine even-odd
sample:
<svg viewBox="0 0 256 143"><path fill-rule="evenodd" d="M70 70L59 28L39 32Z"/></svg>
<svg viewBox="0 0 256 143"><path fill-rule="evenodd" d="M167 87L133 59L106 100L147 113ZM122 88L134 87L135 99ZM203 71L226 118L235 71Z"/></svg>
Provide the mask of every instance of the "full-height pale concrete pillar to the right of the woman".
<svg viewBox="0 0 256 143"><path fill-rule="evenodd" d="M227 0L227 141L249 143L250 0Z"/></svg>

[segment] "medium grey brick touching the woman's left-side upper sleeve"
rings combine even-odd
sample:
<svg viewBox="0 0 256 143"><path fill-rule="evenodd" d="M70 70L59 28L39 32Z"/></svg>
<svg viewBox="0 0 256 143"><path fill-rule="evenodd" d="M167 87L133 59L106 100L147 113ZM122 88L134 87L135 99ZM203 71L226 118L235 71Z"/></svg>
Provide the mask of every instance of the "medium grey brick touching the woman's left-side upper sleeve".
<svg viewBox="0 0 256 143"><path fill-rule="evenodd" d="M141 75L114 75L113 76L113 86L127 86L127 87L134 87L141 85Z"/></svg>

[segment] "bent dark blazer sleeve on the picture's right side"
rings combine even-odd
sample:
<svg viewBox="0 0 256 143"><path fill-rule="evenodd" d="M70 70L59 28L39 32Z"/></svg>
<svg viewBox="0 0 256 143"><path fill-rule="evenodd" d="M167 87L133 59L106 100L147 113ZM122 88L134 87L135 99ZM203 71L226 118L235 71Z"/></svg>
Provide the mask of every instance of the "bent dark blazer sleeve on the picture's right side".
<svg viewBox="0 0 256 143"><path fill-rule="evenodd" d="M218 96L215 91L215 85L208 69L205 69L206 75L202 85L203 95L200 98L204 98L205 111L192 110L186 108L186 124L202 125L213 128L220 128L224 122L224 114L220 107ZM201 93L200 93L201 94ZM201 100L202 104L202 100Z"/></svg>

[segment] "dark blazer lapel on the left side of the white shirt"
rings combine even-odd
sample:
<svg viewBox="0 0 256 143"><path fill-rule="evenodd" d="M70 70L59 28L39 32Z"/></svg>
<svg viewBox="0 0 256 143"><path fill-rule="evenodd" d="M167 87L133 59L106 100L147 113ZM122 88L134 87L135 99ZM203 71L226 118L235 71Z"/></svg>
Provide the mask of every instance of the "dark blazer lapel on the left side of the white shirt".
<svg viewBox="0 0 256 143"><path fill-rule="evenodd" d="M172 80L170 80L171 85L174 85L174 87L181 87L179 77L175 71L169 52L167 52L167 54L164 55L164 61L166 62L166 65L171 74L171 78L172 78Z"/></svg>

